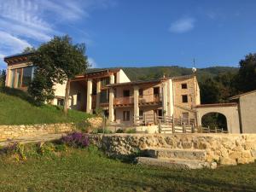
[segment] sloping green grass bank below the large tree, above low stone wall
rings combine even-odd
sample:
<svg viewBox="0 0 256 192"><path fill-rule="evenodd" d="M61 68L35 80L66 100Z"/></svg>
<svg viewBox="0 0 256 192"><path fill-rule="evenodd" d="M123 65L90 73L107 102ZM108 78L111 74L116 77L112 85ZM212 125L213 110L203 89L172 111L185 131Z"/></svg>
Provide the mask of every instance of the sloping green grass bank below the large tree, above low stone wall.
<svg viewBox="0 0 256 192"><path fill-rule="evenodd" d="M0 125L77 123L88 117L87 113L76 110L69 110L66 116L55 106L37 107L26 92L10 88L0 90L0 108Z"/></svg>

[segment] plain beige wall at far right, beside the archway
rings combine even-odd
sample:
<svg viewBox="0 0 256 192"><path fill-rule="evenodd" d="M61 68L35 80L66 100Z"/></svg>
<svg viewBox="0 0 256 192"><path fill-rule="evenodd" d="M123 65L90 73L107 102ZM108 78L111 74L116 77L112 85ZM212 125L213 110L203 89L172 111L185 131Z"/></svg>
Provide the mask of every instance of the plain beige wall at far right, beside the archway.
<svg viewBox="0 0 256 192"><path fill-rule="evenodd" d="M240 96L242 133L256 133L256 92Z"/></svg>

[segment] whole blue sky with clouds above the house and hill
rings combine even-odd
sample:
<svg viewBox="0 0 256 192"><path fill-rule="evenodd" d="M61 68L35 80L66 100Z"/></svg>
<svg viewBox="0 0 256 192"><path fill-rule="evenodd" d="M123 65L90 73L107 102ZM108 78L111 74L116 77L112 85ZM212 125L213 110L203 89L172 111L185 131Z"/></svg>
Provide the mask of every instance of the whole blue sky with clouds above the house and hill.
<svg viewBox="0 0 256 192"><path fill-rule="evenodd" d="M3 57L54 35L94 67L238 66L256 52L255 0L0 0Z"/></svg>

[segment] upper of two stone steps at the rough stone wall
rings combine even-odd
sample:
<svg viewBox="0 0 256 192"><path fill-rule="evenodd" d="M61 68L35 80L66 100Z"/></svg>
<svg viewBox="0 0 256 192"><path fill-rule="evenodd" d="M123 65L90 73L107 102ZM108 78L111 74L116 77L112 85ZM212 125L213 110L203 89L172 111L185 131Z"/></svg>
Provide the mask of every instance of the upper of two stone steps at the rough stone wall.
<svg viewBox="0 0 256 192"><path fill-rule="evenodd" d="M200 149L148 148L146 155L153 158L177 158L183 160L206 160L207 152Z"/></svg>

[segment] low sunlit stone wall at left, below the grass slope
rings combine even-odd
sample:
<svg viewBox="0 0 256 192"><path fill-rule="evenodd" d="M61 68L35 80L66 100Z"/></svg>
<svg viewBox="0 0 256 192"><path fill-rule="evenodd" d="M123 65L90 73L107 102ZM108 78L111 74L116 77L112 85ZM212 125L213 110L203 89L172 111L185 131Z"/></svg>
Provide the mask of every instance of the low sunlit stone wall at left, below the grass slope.
<svg viewBox="0 0 256 192"><path fill-rule="evenodd" d="M16 137L30 137L51 133L73 131L73 124L42 124L42 125L0 125L0 141Z"/></svg>

